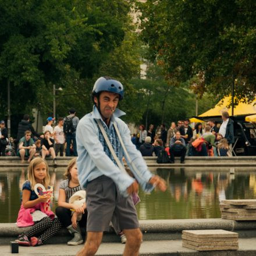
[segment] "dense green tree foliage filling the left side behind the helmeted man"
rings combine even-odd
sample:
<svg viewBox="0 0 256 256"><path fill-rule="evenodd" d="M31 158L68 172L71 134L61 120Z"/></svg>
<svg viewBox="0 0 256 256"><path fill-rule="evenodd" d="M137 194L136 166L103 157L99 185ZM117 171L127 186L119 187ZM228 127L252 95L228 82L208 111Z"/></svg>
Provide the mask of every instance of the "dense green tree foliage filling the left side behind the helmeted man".
<svg viewBox="0 0 256 256"><path fill-rule="evenodd" d="M102 63L109 63L109 56L117 58L115 51L122 51L131 2L1 1L1 114L6 115L8 81L13 114L40 108L49 115L53 84L63 88L61 94L56 92L62 115L70 106L80 113L88 111L94 77L101 73ZM120 59L115 61L115 68L122 65Z"/></svg>

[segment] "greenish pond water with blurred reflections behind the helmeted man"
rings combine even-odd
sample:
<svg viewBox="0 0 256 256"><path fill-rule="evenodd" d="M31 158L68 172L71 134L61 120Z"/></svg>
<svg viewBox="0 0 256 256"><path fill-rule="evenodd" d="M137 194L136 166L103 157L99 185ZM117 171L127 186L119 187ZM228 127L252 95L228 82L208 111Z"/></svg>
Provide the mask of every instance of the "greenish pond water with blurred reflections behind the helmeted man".
<svg viewBox="0 0 256 256"><path fill-rule="evenodd" d="M65 169L50 170L54 186L54 210L59 183ZM219 202L224 199L256 198L255 170L242 169L157 169L168 189L145 194L136 206L139 219L219 218ZM0 222L15 222L20 208L21 189L27 169L0 172Z"/></svg>

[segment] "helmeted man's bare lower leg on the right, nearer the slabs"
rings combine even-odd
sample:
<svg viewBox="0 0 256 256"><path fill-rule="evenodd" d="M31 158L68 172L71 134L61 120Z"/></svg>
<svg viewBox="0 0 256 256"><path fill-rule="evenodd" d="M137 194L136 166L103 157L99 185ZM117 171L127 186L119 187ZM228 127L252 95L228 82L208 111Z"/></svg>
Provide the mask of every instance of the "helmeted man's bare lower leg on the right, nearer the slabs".
<svg viewBox="0 0 256 256"><path fill-rule="evenodd" d="M126 236L123 256L138 256L142 241L142 233L140 229L124 229L123 233L125 233Z"/></svg>

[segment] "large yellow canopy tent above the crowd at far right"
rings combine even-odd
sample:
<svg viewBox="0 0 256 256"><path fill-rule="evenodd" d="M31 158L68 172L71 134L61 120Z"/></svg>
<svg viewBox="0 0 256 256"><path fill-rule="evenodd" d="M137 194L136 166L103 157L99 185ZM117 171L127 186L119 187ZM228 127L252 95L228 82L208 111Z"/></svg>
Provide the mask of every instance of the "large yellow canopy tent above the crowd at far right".
<svg viewBox="0 0 256 256"><path fill-rule="evenodd" d="M227 111L229 115L232 115L232 107L229 106L231 102L231 96L223 98L214 108L209 109L207 112L202 113L199 117L204 116L221 116L223 111ZM256 100L250 104L239 102L234 106L234 115L250 115L256 114L256 105L254 106ZM229 107L228 107L229 106Z"/></svg>

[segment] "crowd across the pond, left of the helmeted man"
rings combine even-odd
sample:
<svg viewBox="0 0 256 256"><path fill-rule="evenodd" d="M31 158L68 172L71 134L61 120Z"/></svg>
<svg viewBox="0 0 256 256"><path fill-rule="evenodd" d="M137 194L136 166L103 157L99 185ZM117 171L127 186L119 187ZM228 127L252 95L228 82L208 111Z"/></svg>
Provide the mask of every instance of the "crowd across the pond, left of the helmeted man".
<svg viewBox="0 0 256 256"><path fill-rule="evenodd" d="M44 126L44 133L38 134L30 123L30 116L25 114L18 125L17 136L13 140L8 139L8 132L5 122L0 122L0 155L6 155L6 147L10 145L13 155L21 158L22 163L25 159L29 163L33 157L52 157L56 164L56 156L59 154L63 157L64 151L67 157L77 157L76 150L76 127L79 118L76 116L75 109L69 110L69 115L65 118L58 118L54 125L55 119L49 116L47 125Z"/></svg>

